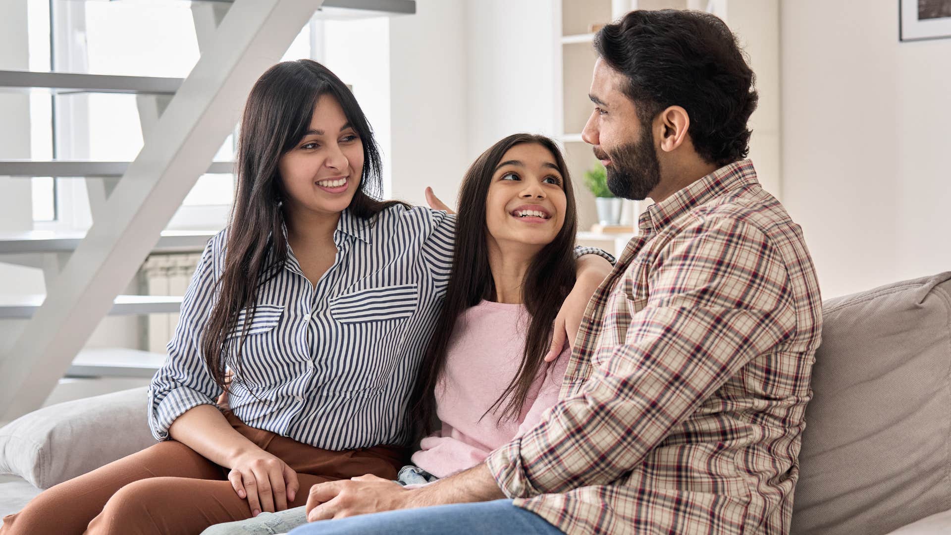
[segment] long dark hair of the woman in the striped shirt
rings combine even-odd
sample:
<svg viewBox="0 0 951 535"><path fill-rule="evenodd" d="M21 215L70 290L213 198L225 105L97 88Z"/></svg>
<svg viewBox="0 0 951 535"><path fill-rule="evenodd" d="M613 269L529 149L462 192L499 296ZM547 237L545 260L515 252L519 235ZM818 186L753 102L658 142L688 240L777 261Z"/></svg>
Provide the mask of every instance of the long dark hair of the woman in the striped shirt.
<svg viewBox="0 0 951 535"><path fill-rule="evenodd" d="M359 188L347 208L362 219L371 219L395 202L380 202L381 158L373 129L353 93L333 72L316 61L301 59L267 69L247 98L238 147L238 190L227 229L222 278L216 301L204 326L202 353L215 383L227 388L226 367L241 381L244 332L254 319L258 288L274 278L287 260L281 198L284 191L278 171L281 156L297 145L310 128L317 100L334 97L363 144L363 172ZM247 308L242 335L228 334L240 312ZM226 355L234 349L233 362Z"/></svg>

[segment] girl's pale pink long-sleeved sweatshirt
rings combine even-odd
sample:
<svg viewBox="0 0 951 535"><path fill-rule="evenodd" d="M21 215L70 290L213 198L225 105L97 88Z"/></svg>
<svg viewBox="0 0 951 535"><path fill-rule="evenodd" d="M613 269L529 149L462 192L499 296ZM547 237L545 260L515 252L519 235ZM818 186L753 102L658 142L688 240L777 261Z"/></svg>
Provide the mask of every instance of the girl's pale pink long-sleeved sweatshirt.
<svg viewBox="0 0 951 535"><path fill-rule="evenodd" d="M442 428L422 439L414 465L440 478L476 466L496 447L538 424L542 412L558 401L571 355L567 345L547 371L542 365L517 420L498 424L498 413L482 418L518 372L529 320L522 305L489 301L459 316L436 387Z"/></svg>

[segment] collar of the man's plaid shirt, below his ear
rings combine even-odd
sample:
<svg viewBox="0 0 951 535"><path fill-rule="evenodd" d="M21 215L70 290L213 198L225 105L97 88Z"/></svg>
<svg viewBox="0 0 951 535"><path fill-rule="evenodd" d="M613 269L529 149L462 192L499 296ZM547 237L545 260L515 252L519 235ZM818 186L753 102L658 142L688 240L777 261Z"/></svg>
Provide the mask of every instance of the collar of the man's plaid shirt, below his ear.
<svg viewBox="0 0 951 535"><path fill-rule="evenodd" d="M756 169L751 161L733 162L693 182L667 199L651 205L641 214L638 227L642 234L660 231L693 208L714 198L758 184Z"/></svg>

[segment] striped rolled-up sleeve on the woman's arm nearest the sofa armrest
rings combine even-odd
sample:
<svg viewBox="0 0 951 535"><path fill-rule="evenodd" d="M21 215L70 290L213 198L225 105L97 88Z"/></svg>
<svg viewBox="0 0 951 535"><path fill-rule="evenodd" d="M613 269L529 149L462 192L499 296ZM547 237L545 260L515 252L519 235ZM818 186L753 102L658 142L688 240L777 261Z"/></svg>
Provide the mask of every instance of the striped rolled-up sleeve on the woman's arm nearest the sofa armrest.
<svg viewBox="0 0 951 535"><path fill-rule="evenodd" d="M205 367L199 342L213 304L215 251L220 249L221 243L223 234L212 238L204 248L185 291L179 323L168 342L165 364L152 377L148 388L148 426L159 441L168 440L168 427L186 410L215 405L215 399L222 393Z"/></svg>

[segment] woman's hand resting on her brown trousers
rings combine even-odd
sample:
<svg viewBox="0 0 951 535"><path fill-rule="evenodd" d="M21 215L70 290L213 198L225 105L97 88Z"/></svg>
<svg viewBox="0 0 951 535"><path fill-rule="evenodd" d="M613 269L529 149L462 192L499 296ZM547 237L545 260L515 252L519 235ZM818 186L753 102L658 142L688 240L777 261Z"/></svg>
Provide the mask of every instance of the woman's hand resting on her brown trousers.
<svg viewBox="0 0 951 535"><path fill-rule="evenodd" d="M297 473L290 466L260 448L235 458L228 481L239 497L247 498L252 516L286 509L301 488Z"/></svg>

